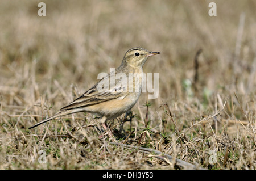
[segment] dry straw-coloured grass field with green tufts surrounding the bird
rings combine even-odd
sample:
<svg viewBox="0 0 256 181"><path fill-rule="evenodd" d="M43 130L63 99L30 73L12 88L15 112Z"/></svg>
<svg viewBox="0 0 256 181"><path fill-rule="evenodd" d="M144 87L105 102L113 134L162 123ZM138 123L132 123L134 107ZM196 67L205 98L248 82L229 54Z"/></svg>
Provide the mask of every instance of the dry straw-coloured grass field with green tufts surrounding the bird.
<svg viewBox="0 0 256 181"><path fill-rule="evenodd" d="M0 3L0 169L179 169L98 138L101 127L85 127L93 115L28 130L132 47L161 52L144 66L159 72L159 98L147 112L142 94L122 135L109 122L119 141L205 169L255 169L255 1L214 1L216 17L210 1L43 1L46 17L39 2Z"/></svg>

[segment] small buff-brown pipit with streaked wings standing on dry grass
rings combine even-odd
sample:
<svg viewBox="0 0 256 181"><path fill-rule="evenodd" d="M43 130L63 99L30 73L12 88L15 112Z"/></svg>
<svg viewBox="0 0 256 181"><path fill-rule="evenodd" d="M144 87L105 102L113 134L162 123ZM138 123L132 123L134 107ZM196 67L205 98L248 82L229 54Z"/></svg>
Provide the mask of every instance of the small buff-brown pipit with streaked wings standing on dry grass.
<svg viewBox="0 0 256 181"><path fill-rule="evenodd" d="M142 89L142 78L140 76L140 74L143 73L142 67L148 57L159 53L160 52L150 52L139 47L129 49L123 57L122 64L114 71L114 73L110 71L106 77L98 81L96 85L82 94L79 98L61 108L55 115L36 123L29 129L35 128L56 117L77 112L89 112L100 115L100 123L107 129L105 125L106 120L112 120L121 116L135 105ZM114 83L112 81L111 83L111 79L114 78L115 80L117 75L121 74L129 77L129 73L135 75L131 81L123 81L124 79L120 78L119 81L115 81ZM106 83L109 79L110 83ZM125 85L126 83L127 85ZM137 91L135 90L136 86L139 87ZM110 89L108 89L109 87Z"/></svg>

